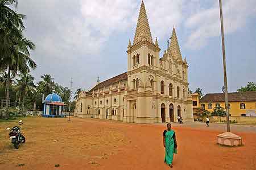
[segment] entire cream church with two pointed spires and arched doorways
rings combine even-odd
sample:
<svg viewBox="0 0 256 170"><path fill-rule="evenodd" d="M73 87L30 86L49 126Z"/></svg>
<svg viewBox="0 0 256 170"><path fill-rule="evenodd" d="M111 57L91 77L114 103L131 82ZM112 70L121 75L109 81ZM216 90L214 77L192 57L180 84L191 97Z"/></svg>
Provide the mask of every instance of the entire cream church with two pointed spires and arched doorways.
<svg viewBox="0 0 256 170"><path fill-rule="evenodd" d="M193 122L188 93L188 64L181 56L175 28L170 47L159 57L158 40L152 40L142 1L133 44L127 47L127 72L98 82L76 99L79 118L134 123Z"/></svg>

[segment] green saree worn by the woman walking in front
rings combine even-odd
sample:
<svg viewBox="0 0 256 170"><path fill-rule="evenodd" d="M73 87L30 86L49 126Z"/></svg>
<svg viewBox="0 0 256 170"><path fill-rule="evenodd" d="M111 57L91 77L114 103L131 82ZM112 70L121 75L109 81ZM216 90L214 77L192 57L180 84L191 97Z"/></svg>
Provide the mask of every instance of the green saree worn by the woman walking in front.
<svg viewBox="0 0 256 170"><path fill-rule="evenodd" d="M166 131L165 142L166 142L166 156L164 157L164 162L168 165L172 164L174 159L174 154L177 154L177 148L175 148L175 132L173 130Z"/></svg>

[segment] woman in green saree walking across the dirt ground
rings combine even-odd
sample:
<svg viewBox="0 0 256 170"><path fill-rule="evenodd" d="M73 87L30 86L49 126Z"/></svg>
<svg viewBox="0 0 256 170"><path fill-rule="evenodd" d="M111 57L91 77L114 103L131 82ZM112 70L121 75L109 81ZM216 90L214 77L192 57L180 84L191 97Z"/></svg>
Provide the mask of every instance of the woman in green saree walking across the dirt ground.
<svg viewBox="0 0 256 170"><path fill-rule="evenodd" d="M172 160L174 159L174 154L177 154L177 141L175 132L171 130L171 123L167 124L167 130L164 130L163 132L163 144L166 148L166 156L164 157L164 162L172 168Z"/></svg>

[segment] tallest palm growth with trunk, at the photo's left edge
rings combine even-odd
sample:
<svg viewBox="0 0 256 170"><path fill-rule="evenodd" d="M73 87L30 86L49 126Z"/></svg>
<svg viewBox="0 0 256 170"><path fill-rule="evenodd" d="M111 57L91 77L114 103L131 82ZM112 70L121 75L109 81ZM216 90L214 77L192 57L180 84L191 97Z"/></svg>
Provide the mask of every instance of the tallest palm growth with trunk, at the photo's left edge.
<svg viewBox="0 0 256 170"><path fill-rule="evenodd" d="M10 77L18 72L28 73L30 68L35 69L36 64L30 58L29 49L34 50L35 44L24 38L23 18L11 7L18 6L17 0L0 1L0 71L7 71L6 82L6 118L9 118L9 89Z"/></svg>

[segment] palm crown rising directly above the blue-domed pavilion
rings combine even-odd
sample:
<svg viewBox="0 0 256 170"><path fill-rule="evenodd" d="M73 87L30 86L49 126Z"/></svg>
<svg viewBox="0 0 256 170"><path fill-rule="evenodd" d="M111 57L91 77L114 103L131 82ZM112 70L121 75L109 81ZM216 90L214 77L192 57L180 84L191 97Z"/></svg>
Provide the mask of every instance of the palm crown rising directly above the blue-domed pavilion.
<svg viewBox="0 0 256 170"><path fill-rule="evenodd" d="M53 90L53 78L49 74L43 74L41 78L43 78L43 81L38 82L37 91L39 93L47 95Z"/></svg>

